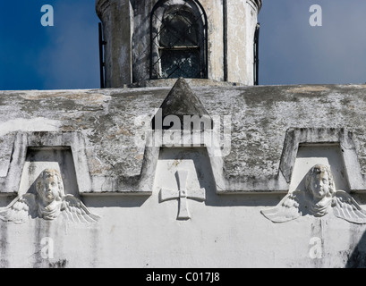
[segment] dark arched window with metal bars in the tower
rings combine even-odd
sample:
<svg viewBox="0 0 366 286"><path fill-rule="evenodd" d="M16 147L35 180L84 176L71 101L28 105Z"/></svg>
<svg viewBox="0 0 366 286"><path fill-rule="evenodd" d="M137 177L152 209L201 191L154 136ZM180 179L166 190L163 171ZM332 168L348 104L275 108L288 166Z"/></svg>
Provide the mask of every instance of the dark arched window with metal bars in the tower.
<svg viewBox="0 0 366 286"><path fill-rule="evenodd" d="M206 15L195 1L174 3L151 15L150 78L207 78Z"/></svg>

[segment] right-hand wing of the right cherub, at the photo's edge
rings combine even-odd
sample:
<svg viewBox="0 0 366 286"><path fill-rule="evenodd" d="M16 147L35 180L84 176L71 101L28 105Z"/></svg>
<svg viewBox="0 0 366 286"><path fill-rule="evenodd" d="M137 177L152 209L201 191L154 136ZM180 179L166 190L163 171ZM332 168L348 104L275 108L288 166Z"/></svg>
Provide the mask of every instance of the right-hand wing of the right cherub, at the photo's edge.
<svg viewBox="0 0 366 286"><path fill-rule="evenodd" d="M366 211L344 190L336 191L332 206L336 217L350 223L366 223Z"/></svg>

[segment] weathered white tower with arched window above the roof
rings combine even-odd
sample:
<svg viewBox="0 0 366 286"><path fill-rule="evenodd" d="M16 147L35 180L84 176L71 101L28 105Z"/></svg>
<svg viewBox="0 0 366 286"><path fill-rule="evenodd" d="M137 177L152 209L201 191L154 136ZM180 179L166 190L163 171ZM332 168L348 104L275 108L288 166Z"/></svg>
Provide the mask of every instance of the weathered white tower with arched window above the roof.
<svg viewBox="0 0 366 286"><path fill-rule="evenodd" d="M106 88L159 79L258 79L261 0L97 0Z"/></svg>

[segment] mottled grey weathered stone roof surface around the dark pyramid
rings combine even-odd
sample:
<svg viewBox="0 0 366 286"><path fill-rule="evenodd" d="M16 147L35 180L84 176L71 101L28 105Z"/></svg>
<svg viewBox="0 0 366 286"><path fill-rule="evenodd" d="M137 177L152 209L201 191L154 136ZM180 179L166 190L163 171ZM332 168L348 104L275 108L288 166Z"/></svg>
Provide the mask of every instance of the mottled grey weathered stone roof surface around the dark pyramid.
<svg viewBox="0 0 366 286"><path fill-rule="evenodd" d="M365 85L235 87L206 83L192 84L192 90L209 115L231 116L231 152L222 158L223 190L285 191L280 164L289 129L347 130L360 170L366 171ZM139 116L151 119L171 88L1 91L0 142L4 147L0 173L8 172L17 132L78 132L85 141L90 191L138 190L131 186L139 181L146 156L135 136L147 126L136 125L135 120ZM322 143L327 142L327 136L324 138Z"/></svg>

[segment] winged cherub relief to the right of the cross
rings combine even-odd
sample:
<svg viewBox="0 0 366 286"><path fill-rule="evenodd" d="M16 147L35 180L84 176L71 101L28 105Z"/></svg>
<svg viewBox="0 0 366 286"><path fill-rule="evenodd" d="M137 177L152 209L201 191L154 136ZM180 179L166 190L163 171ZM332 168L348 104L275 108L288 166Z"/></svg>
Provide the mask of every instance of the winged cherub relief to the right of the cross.
<svg viewBox="0 0 366 286"><path fill-rule="evenodd" d="M294 190L273 208L260 211L274 223L302 215L323 216L330 212L350 223L366 223L366 211L344 190L336 190L327 165L316 164L305 177L305 190Z"/></svg>

